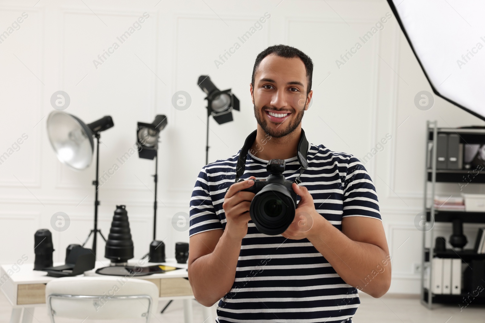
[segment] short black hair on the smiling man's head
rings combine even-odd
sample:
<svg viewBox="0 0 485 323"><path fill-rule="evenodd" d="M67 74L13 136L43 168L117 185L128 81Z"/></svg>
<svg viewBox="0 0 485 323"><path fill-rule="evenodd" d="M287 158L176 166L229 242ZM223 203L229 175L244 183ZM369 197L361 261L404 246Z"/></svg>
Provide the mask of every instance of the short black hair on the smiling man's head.
<svg viewBox="0 0 485 323"><path fill-rule="evenodd" d="M299 57L300 60L303 61L303 63L305 64L305 69L307 70L307 82L308 82L307 95L308 95L308 93L311 90L311 78L313 76L313 62L308 57L308 55L302 52L301 50L295 47L282 45L282 44L269 46L268 48L260 52L256 57L256 61L254 62L254 67L253 67L253 76L251 77L251 84L253 85L253 88L254 88L254 75L256 73L256 69L258 68L261 61L270 54L275 54L279 57L284 57L284 58Z"/></svg>

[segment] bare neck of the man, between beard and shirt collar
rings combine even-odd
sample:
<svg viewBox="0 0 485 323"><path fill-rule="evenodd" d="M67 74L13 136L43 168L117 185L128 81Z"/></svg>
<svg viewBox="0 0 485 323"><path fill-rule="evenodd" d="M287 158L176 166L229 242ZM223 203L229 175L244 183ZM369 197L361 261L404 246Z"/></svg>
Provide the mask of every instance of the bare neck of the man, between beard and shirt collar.
<svg viewBox="0 0 485 323"><path fill-rule="evenodd" d="M263 160L289 159L297 154L300 136L301 124L291 134L281 138L266 134L258 124L256 140L249 151Z"/></svg>

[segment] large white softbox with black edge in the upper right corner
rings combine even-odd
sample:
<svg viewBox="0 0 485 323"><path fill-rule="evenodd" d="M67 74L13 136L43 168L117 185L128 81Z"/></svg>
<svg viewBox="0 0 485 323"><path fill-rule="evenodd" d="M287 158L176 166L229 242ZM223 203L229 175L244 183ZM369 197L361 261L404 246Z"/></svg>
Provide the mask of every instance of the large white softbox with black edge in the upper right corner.
<svg viewBox="0 0 485 323"><path fill-rule="evenodd" d="M485 1L388 3L433 92L485 120Z"/></svg>

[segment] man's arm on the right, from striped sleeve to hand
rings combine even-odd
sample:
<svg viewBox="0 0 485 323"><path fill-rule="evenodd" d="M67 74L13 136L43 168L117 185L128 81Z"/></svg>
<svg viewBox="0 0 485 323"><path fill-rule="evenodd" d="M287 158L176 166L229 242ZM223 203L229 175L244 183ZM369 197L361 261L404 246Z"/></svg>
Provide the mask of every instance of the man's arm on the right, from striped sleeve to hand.
<svg viewBox="0 0 485 323"><path fill-rule="evenodd" d="M378 298L390 287L391 257L375 188L362 164L355 157L351 161L343 189L342 231L315 210L306 187L293 184L301 200L283 236L307 238L347 284Z"/></svg>

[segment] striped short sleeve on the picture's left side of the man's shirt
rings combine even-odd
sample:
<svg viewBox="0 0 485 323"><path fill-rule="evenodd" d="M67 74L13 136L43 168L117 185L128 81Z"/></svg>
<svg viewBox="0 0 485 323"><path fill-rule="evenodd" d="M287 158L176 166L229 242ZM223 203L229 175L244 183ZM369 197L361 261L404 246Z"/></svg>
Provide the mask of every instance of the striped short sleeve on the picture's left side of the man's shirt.
<svg viewBox="0 0 485 323"><path fill-rule="evenodd" d="M190 199L189 237L196 233L216 229L224 228L215 214L214 205L210 197L207 172L203 168L197 177Z"/></svg>

